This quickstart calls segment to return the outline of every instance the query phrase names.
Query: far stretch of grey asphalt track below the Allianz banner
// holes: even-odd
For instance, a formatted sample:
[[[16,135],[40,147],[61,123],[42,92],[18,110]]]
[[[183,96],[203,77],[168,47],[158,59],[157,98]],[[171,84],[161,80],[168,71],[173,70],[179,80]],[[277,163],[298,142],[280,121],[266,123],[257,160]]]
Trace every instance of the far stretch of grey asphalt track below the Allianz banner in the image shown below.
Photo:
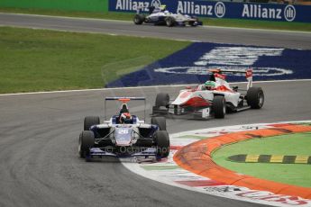
[[[219,27],[168,28],[166,26],[134,25],[133,22],[1,13],[0,25],[64,31],[92,31],[172,40],[201,40],[289,49],[311,49],[311,32],[241,30]]]

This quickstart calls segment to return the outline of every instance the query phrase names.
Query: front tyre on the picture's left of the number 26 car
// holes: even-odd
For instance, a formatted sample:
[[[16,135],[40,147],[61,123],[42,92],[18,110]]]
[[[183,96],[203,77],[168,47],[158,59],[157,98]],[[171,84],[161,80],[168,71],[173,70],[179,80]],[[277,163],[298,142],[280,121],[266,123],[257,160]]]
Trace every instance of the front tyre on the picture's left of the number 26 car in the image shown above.
[[[94,146],[94,133],[91,130],[83,130],[78,138],[78,154],[80,157],[87,157],[89,148]]]

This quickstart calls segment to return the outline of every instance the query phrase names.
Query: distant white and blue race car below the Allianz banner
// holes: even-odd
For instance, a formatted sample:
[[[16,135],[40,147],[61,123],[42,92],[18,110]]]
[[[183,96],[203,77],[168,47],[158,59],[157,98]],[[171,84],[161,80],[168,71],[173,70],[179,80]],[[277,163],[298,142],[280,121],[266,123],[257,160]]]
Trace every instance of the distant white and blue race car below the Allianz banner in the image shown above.
[[[154,6],[149,7],[149,15],[141,14],[141,9],[137,11],[137,14],[133,18],[135,24],[142,23],[152,23],[155,25],[167,25],[169,27],[173,26],[197,26],[202,25],[202,22],[199,22],[197,17],[189,16],[187,14],[172,14],[166,10],[165,5],[160,5],[159,8]]]

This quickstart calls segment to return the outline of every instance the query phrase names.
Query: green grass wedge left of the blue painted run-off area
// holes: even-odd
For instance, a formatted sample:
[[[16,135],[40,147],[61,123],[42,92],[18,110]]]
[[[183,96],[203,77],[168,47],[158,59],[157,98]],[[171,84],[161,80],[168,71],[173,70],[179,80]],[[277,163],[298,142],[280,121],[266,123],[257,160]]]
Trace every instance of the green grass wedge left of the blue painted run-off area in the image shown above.
[[[189,43],[0,27],[0,94],[100,88]]]

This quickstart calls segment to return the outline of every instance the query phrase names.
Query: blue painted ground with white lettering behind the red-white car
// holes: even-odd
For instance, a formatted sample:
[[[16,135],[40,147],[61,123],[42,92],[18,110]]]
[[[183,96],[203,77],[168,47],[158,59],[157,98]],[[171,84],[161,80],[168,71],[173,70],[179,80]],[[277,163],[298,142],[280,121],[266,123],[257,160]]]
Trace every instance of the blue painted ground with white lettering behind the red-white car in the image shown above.
[[[252,68],[254,81],[311,78],[310,57],[311,50],[196,42],[106,86],[199,84],[211,68]],[[244,75],[227,78],[245,81]]]

